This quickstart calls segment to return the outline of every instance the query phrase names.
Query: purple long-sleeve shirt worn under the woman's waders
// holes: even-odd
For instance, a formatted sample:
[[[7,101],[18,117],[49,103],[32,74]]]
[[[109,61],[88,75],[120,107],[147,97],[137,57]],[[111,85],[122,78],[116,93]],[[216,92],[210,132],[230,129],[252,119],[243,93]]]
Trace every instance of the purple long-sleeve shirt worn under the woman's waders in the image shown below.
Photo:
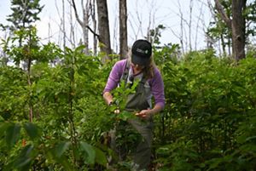
[[[104,88],[103,93],[111,92],[113,88],[116,88],[119,84],[120,78],[122,77],[125,71],[126,60],[119,60],[115,63],[112,68],[112,71],[109,74],[108,82]],[[154,96],[154,104],[160,105],[162,108],[165,106],[165,92],[164,92],[164,83],[160,75],[160,71],[154,67],[154,77],[148,79],[148,83],[151,87],[151,93]]]

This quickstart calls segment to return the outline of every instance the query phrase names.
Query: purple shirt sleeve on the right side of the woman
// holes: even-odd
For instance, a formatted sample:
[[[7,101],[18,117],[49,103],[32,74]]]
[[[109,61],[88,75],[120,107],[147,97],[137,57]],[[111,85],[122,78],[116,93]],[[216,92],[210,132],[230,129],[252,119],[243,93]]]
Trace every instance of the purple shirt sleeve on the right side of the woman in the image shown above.
[[[166,104],[164,82],[160,71],[157,68],[154,70],[154,77],[152,78],[151,84],[151,91],[154,96],[154,105],[160,105],[164,108]]]

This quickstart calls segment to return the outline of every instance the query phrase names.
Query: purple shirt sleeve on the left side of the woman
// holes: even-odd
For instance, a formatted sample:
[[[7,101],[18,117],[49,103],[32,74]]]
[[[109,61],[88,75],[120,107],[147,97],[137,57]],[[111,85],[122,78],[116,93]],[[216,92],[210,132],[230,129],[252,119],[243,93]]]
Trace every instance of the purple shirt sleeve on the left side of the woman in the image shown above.
[[[123,63],[124,61],[120,60],[114,64],[108,76],[108,82],[103,90],[103,94],[105,92],[110,92],[118,86],[118,83],[123,73]]]

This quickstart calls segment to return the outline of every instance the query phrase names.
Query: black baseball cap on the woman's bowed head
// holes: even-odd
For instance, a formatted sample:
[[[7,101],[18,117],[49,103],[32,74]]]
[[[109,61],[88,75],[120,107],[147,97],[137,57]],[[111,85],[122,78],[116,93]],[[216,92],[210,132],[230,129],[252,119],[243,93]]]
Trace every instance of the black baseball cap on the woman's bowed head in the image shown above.
[[[139,39],[131,48],[131,62],[139,66],[148,66],[152,54],[152,46],[147,40]]]

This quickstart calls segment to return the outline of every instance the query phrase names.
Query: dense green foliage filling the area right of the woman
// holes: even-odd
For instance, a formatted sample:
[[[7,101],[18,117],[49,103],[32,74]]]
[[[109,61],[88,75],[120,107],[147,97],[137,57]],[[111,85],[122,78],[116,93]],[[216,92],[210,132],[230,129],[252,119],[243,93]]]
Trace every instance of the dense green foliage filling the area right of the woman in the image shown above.
[[[247,58],[236,66],[202,51],[187,54],[176,65],[169,61],[160,66],[166,87],[166,110],[157,125],[160,169],[255,167],[255,62]]]

